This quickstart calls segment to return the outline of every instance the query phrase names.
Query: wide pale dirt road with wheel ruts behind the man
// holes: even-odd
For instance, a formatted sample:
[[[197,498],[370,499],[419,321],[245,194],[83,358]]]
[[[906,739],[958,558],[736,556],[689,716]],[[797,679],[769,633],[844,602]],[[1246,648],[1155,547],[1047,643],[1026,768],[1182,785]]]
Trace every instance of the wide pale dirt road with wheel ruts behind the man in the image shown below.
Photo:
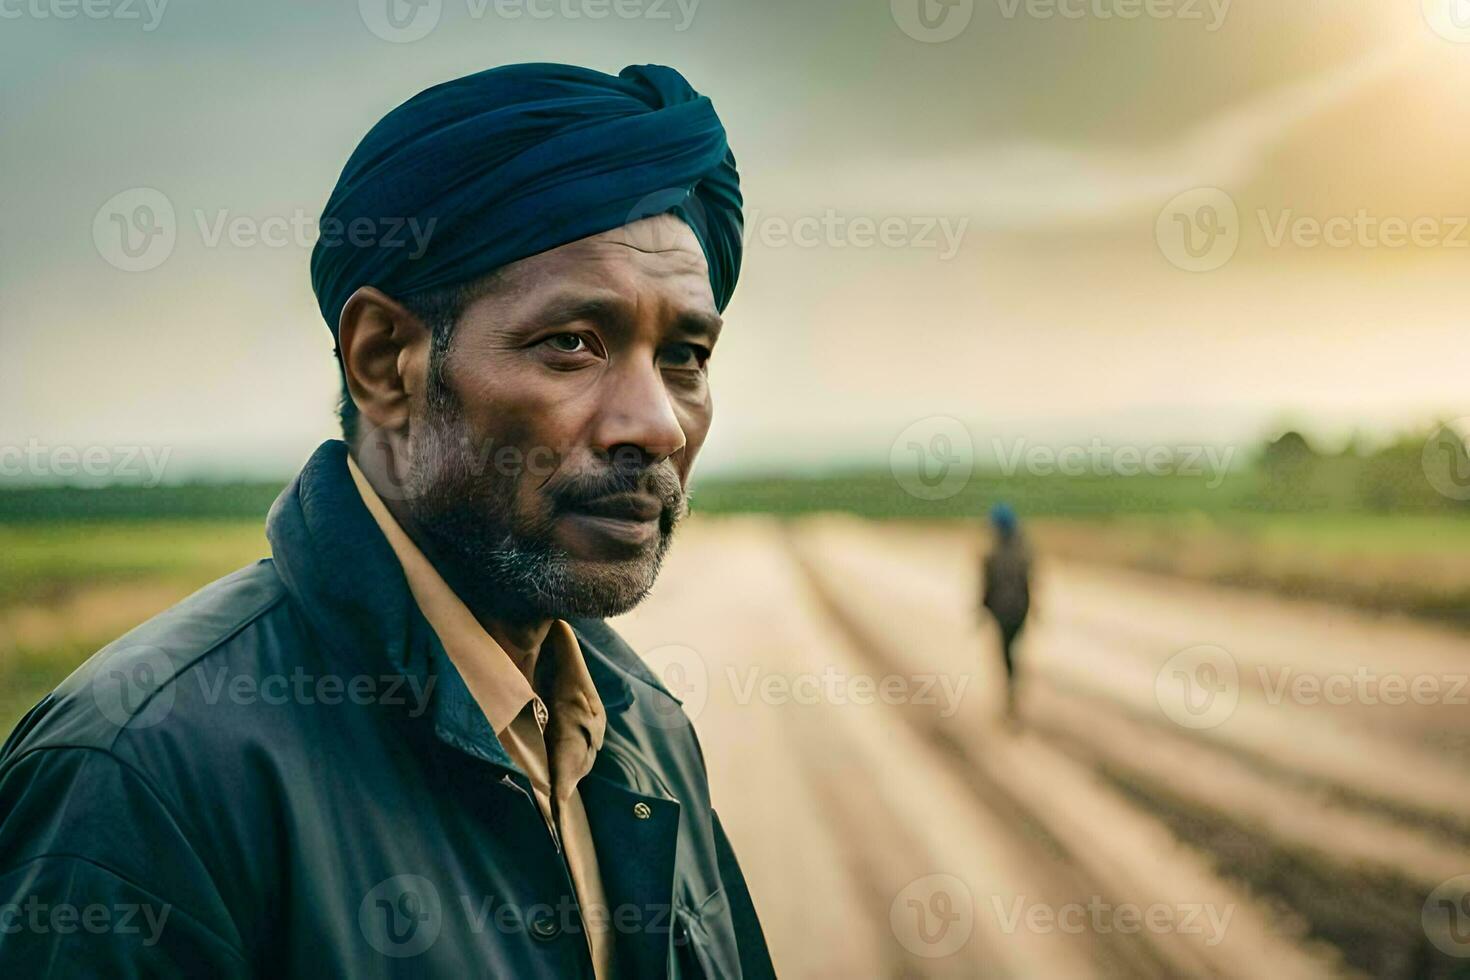
[[[942,529],[695,519],[617,623],[782,976],[1470,973],[1464,636],[1042,561],[1010,727],[975,566]]]

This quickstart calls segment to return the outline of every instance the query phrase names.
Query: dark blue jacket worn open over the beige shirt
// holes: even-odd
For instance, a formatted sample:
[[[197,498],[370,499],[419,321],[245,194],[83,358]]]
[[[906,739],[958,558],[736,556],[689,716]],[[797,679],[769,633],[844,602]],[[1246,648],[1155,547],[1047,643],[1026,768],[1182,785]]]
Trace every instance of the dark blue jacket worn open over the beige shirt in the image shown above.
[[[88,660],[0,752],[0,976],[588,977],[531,785],[328,442],[273,560]],[[678,702],[575,620],[623,977],[770,977]]]

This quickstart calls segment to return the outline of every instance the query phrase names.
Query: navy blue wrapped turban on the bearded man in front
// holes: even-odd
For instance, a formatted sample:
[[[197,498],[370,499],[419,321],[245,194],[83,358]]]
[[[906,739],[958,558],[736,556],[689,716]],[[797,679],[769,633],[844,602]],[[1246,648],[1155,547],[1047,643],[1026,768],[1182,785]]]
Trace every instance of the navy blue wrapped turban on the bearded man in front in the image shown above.
[[[679,72],[507,65],[428,88],[357,145],[322,213],[312,288],[337,334],[363,285],[403,297],[672,212],[716,306],[741,263],[735,157]]]

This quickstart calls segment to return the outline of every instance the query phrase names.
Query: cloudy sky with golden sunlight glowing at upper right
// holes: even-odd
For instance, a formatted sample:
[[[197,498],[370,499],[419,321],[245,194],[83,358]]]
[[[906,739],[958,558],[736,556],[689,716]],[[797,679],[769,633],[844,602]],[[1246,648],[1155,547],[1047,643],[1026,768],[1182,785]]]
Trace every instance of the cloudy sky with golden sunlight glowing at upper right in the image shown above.
[[[673,65],[725,120],[703,472],[1470,416],[1470,0],[0,0],[0,451],[293,473],[343,163],[526,60]]]

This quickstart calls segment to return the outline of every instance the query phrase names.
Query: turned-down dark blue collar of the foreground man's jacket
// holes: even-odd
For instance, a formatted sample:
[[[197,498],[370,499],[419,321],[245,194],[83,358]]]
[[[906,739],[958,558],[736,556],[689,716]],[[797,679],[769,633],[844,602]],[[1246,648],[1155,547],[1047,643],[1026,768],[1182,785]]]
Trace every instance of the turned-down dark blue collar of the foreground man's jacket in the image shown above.
[[[365,673],[391,671],[431,691],[441,741],[510,768],[500,739],[429,627],[347,469],[347,444],[323,442],[266,519],[276,570],[297,608],[337,657]],[[601,620],[572,620],[592,686],[609,716],[632,704],[629,677],[656,686]],[[426,688],[432,677],[432,688]]]

